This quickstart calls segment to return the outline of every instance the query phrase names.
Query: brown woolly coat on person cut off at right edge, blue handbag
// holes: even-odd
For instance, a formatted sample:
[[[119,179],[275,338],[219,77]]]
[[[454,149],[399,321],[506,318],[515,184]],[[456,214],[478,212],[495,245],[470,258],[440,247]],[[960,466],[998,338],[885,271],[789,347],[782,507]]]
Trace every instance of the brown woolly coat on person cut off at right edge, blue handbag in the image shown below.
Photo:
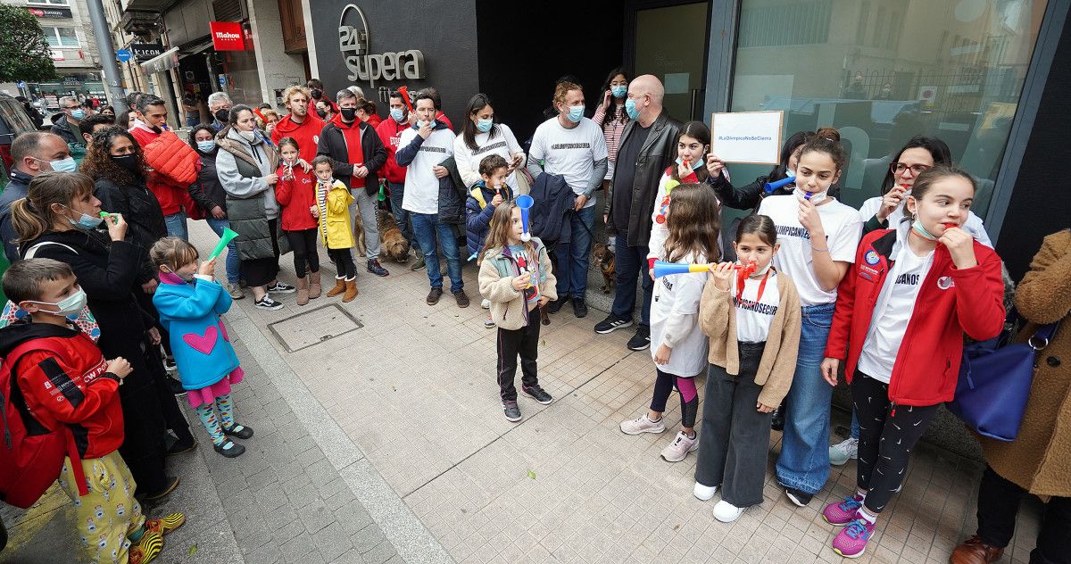
[[[1045,238],[1015,290],[1015,307],[1030,321],[1020,340],[1037,323],[1064,322],[1038,357],[1019,438],[981,438],[982,452],[997,474],[1030,493],[1071,497],[1071,231]]]

